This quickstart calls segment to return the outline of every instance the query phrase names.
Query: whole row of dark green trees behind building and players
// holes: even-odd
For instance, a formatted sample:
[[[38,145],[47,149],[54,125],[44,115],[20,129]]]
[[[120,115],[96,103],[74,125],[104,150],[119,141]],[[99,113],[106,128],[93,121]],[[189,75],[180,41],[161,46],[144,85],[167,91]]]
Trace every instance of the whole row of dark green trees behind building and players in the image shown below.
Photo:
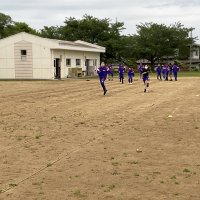
[[[123,35],[123,22],[112,23],[109,18],[98,19],[85,14],[82,19],[65,18],[61,26],[31,28],[25,22],[15,22],[9,15],[0,13],[0,38],[27,32],[40,37],[59,40],[83,40],[106,47],[101,59],[106,63],[135,65],[138,59],[147,59],[154,66],[163,58],[188,59],[189,46],[197,38],[189,37],[194,28],[186,28],[180,22],[172,25],[141,23],[136,34]]]

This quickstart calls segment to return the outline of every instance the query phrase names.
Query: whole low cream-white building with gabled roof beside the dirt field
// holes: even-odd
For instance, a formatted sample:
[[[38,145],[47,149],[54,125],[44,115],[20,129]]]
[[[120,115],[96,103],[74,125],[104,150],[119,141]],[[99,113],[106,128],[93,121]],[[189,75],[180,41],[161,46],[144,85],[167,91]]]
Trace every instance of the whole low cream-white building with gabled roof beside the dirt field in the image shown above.
[[[18,33],[0,40],[0,79],[59,79],[93,75],[105,48]]]

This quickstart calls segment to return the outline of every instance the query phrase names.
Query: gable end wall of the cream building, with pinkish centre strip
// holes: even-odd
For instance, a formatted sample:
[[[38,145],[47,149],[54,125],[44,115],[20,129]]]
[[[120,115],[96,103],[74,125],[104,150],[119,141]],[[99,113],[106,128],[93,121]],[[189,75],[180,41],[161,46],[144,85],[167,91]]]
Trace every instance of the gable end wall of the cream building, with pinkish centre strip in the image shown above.
[[[43,42],[41,42],[43,41]],[[53,63],[48,40],[31,35],[15,35],[0,41],[1,79],[53,79]],[[21,60],[21,50],[27,60]]]

